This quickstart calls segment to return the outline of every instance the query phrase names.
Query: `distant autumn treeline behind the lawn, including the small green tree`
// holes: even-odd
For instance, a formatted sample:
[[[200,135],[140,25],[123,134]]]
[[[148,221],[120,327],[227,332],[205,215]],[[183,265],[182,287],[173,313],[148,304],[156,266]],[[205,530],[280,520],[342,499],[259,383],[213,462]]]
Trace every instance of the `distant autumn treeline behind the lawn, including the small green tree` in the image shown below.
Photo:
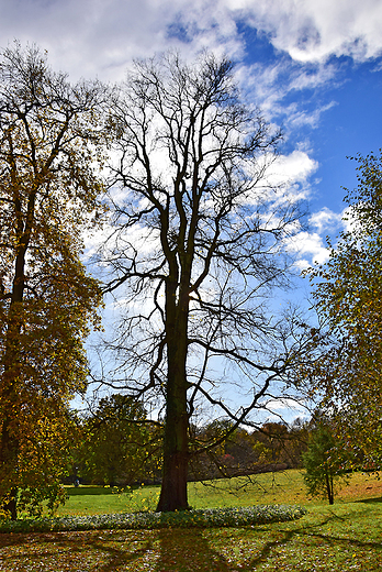
[[[193,427],[193,439],[207,446],[229,429],[231,421],[214,420]],[[65,484],[126,487],[160,484],[162,425],[147,418],[141,402],[115,394],[100,399],[86,417],[76,416],[77,444],[70,450]],[[228,426],[228,427],[227,427]],[[188,481],[210,481],[259,473],[304,469],[312,496],[334,504],[335,491],[355,470],[370,471],[360,448],[349,448],[330,418],[316,411],[291,426],[267,421],[248,431],[237,428],[218,447],[195,457]]]

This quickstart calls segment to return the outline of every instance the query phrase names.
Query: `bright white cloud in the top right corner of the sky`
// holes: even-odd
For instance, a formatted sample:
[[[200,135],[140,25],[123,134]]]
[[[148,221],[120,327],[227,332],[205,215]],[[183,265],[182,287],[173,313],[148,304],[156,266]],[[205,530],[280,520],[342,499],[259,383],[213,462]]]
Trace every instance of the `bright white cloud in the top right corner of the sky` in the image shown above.
[[[350,55],[363,61],[381,54],[380,0],[226,0],[255,28],[268,32],[278,50],[300,62]]]

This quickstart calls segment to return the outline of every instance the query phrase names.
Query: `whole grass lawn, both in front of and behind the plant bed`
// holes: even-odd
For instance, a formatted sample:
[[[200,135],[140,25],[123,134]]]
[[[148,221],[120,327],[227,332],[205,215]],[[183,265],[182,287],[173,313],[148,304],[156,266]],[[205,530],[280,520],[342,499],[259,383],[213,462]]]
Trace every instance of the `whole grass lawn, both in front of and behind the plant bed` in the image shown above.
[[[239,481],[244,485],[244,481]],[[382,482],[355,475],[334,506],[308,499],[301,473],[259,475],[235,491],[190,483],[195,508],[300,504],[300,520],[244,528],[0,535],[0,571],[238,572],[382,570]],[[61,514],[123,512],[153,504],[156,487],[130,497],[97,487],[69,488]]]

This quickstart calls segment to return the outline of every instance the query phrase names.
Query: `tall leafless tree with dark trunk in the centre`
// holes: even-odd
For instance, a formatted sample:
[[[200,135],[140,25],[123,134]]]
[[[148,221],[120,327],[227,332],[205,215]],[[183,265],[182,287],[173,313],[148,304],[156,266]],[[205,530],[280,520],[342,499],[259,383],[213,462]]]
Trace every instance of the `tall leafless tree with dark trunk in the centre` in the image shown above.
[[[112,346],[121,384],[165,404],[157,509],[186,509],[189,460],[216,444],[192,443],[191,416],[210,404],[233,420],[228,431],[254,422],[281,395],[272,387],[301,343],[268,311],[271,287],[288,279],[299,207],[267,184],[280,134],[240,101],[229,61],[138,62],[113,108],[115,227],[104,260],[106,289],[125,290]],[[247,404],[231,408],[218,377],[246,387]]]

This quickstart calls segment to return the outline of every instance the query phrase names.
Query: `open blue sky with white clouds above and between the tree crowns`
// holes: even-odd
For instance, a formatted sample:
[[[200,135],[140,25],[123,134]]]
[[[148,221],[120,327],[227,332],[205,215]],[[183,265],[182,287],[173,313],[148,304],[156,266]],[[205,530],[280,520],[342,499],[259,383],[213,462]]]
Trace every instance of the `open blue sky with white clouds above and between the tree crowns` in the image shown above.
[[[135,57],[201,48],[237,62],[243,90],[282,127],[277,180],[308,200],[301,265],[326,256],[340,230],[347,156],[378,151],[382,133],[380,0],[0,0],[0,47],[48,51],[74,80],[117,81]]]

